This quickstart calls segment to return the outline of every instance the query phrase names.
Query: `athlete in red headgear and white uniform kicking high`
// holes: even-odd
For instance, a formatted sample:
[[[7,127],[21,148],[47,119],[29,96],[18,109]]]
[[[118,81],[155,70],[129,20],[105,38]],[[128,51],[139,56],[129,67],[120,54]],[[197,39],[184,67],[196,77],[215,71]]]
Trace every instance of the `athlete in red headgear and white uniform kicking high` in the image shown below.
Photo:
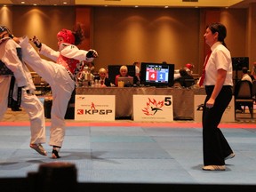
[[[28,37],[20,38],[23,60],[33,68],[39,76],[50,84],[52,89],[51,134],[49,144],[52,146],[52,158],[59,158],[60,148],[65,136],[65,114],[68,101],[75,89],[76,68],[81,69],[81,61],[92,62],[98,57],[94,50],[79,50],[75,44],[80,44],[78,33],[62,29],[58,35],[59,51],[56,52],[45,44],[41,44],[36,36],[34,44],[39,48],[39,53],[54,60],[43,60],[28,42]],[[78,39],[78,40],[77,40]]]

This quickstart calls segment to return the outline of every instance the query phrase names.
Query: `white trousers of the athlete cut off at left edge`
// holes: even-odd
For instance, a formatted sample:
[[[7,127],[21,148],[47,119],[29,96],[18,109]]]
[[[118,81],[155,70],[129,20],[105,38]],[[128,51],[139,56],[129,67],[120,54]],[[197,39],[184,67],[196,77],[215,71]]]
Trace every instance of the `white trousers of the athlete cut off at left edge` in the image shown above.
[[[12,76],[0,76],[0,120],[3,119],[8,105],[8,92]],[[20,106],[27,112],[30,120],[31,144],[45,143],[44,106],[34,94],[21,91]]]

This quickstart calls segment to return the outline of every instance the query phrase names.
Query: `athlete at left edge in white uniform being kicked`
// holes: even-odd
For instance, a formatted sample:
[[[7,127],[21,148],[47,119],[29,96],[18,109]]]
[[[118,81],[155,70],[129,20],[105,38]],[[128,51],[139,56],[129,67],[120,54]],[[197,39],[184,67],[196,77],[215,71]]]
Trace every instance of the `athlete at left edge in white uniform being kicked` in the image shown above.
[[[0,26],[0,58],[4,65],[13,72],[15,84],[12,98],[18,100],[16,90],[21,87],[20,105],[28,113],[30,120],[30,148],[34,148],[39,154],[46,156],[42,143],[45,143],[44,106],[33,93],[36,89],[32,76],[27,66],[18,57],[20,45],[12,40],[8,28]],[[2,68],[3,69],[3,68]],[[8,106],[8,93],[12,76],[0,75],[0,120]]]

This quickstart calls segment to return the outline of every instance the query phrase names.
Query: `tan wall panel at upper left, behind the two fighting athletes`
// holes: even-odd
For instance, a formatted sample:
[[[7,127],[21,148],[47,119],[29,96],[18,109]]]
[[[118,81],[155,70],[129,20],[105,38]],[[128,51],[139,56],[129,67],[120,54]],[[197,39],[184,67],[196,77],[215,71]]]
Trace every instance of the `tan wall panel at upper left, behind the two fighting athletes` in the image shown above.
[[[13,34],[37,36],[41,42],[57,50],[56,35],[61,28],[72,29],[75,24],[74,7],[14,6]]]

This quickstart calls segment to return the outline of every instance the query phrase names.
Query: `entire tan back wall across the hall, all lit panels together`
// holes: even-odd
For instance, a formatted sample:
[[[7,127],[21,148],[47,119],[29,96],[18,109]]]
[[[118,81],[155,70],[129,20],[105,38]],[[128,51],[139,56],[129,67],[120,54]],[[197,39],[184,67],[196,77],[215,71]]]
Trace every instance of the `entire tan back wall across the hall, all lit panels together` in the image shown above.
[[[138,60],[167,61],[181,68],[190,62],[196,66],[194,72],[201,74],[204,20],[202,9],[94,7],[90,44],[100,54],[95,67],[132,64]],[[248,33],[255,20],[248,19],[247,9],[220,10],[220,21],[228,28],[226,43],[233,57],[250,57],[255,52],[255,45],[249,45],[252,35]],[[11,26],[16,36],[36,35],[43,43],[57,49],[56,34],[61,28],[72,29],[76,7],[3,7],[0,21],[1,25]],[[255,30],[255,26],[253,28]]]

